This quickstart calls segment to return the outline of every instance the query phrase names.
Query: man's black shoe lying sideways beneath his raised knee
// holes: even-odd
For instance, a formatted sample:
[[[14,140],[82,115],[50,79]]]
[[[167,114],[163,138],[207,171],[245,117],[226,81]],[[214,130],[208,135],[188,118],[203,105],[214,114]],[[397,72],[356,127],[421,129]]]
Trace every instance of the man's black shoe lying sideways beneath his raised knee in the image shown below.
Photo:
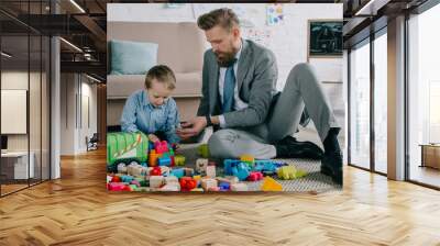
[[[293,136],[286,136],[275,144],[276,156],[280,158],[321,159],[323,152],[311,142],[298,142]]]

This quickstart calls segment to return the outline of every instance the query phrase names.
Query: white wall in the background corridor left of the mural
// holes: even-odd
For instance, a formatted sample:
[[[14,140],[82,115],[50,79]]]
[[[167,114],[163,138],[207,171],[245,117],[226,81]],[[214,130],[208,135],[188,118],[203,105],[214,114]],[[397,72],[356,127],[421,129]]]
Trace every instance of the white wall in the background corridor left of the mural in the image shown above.
[[[85,153],[86,136],[97,132],[97,86],[79,74],[62,74],[61,80],[61,154]],[[89,101],[90,125],[84,118],[87,114],[84,98]]]

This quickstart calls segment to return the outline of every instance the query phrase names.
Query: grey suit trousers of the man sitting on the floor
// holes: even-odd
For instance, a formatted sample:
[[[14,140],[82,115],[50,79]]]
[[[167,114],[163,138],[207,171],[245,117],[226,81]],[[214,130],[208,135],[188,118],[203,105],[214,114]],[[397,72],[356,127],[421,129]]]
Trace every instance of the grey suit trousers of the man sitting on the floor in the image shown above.
[[[248,128],[222,128],[215,132],[208,141],[211,156],[239,158],[249,154],[257,159],[276,157],[273,144],[297,130],[305,107],[322,142],[330,127],[339,127],[314,69],[308,64],[298,64],[290,70],[267,120]]]

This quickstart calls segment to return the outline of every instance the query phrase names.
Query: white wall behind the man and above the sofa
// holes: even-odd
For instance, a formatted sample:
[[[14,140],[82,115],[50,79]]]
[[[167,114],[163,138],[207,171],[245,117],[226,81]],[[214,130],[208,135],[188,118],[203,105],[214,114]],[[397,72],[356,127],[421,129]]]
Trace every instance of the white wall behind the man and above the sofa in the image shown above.
[[[308,20],[342,20],[342,4],[294,4],[285,3],[284,24],[266,25],[266,3],[185,3],[180,8],[166,8],[166,3],[109,3],[107,21],[124,22],[196,22],[197,16],[211,9],[229,7],[235,10],[245,23],[255,27],[242,27],[244,37],[251,30],[257,30],[270,37],[257,41],[275,53],[278,64],[278,90],[282,90],[289,70],[298,63],[307,62]],[[146,30],[145,30],[146,32]],[[207,47],[209,47],[207,45]],[[314,58],[309,60],[316,67],[321,81],[342,81],[341,58]]]

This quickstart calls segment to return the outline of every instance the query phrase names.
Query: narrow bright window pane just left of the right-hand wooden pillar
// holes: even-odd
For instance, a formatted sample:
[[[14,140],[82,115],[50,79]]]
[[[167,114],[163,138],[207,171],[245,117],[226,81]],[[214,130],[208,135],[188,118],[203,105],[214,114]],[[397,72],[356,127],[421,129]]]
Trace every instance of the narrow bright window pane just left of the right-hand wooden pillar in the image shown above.
[[[374,168],[387,172],[387,38],[374,41]]]

